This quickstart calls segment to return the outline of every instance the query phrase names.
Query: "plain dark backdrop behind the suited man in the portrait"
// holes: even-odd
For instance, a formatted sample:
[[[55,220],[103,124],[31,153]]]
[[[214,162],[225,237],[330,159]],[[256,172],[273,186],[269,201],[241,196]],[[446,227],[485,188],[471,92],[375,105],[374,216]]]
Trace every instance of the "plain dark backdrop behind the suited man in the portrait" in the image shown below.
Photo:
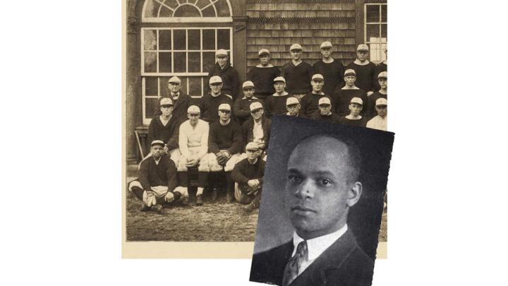
[[[286,164],[291,151],[303,138],[317,134],[348,138],[361,151],[359,181],[363,184],[363,193],[349,211],[348,227],[365,253],[375,258],[394,133],[284,115],[272,121],[254,252],[291,239],[293,227],[284,206]]]

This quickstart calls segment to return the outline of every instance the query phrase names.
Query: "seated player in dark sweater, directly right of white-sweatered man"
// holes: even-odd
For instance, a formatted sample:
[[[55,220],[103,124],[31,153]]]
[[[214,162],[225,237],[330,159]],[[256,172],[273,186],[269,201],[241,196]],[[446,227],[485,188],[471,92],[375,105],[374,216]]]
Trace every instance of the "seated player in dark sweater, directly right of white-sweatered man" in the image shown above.
[[[226,173],[226,201],[232,203],[234,199],[231,171],[238,162],[243,149],[241,126],[231,120],[231,106],[226,103],[219,105],[219,120],[210,124],[208,136],[208,152],[210,152],[210,179],[212,182],[212,201],[217,198],[217,182],[219,173],[224,169]]]

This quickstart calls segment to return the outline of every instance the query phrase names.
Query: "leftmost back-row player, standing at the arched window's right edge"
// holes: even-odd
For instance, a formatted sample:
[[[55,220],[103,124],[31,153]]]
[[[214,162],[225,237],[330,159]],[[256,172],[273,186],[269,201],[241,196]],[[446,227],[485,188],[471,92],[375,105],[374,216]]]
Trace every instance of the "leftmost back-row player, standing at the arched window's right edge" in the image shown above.
[[[222,92],[231,96],[232,100],[235,100],[240,88],[238,71],[236,71],[236,69],[229,63],[229,57],[225,49],[217,49],[215,52],[215,59],[217,60],[217,63],[210,68],[207,81],[210,81],[212,76],[219,76],[222,79],[221,82],[224,83],[224,86],[222,86]]]

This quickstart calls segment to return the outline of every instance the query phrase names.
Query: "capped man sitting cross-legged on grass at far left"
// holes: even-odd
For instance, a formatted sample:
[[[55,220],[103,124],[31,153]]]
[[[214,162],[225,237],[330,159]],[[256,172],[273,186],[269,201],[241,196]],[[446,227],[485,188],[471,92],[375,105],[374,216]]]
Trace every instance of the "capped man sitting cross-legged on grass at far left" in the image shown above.
[[[164,142],[153,141],[150,152],[152,156],[140,163],[139,179],[131,181],[128,186],[128,190],[143,201],[141,211],[153,210],[160,213],[162,203],[173,203],[179,198],[183,198],[183,203],[186,204],[187,190],[176,187],[176,166],[169,155],[164,155]]]

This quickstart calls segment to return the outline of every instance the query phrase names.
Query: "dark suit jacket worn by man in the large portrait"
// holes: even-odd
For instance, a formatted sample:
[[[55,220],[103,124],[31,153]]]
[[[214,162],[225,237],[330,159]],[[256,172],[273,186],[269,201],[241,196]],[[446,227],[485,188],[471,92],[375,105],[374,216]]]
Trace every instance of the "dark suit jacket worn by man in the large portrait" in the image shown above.
[[[291,258],[293,241],[254,254],[250,281],[282,285],[284,268]],[[343,234],[291,282],[291,286],[370,286],[374,261],[356,243],[351,230]]]

